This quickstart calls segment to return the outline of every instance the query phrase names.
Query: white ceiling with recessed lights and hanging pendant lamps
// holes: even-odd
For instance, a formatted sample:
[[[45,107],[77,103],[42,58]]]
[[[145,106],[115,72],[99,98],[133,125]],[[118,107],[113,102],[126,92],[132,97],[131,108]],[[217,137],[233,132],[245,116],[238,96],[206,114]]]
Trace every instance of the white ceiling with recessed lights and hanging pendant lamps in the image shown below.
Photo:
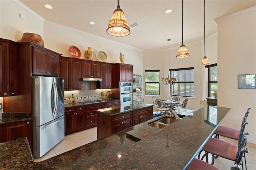
[[[45,20],[75,28],[140,49],[166,49],[182,43],[181,0],[120,0],[130,28],[125,37],[110,36],[108,21],[117,8],[117,0],[21,0]],[[206,0],[206,37],[217,32],[215,18],[256,6],[256,0]],[[50,4],[52,10],[43,5]],[[164,14],[172,9],[170,14]],[[90,25],[93,21],[96,24]],[[204,0],[184,0],[184,45],[204,39]]]

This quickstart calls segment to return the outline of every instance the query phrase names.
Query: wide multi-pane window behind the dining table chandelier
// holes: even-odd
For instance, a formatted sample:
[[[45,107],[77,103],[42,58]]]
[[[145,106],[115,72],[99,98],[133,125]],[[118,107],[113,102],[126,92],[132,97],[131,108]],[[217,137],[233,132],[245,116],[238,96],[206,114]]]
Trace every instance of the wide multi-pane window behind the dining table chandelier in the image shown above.
[[[170,77],[176,82],[170,85],[170,94],[184,97],[194,97],[194,67],[170,69]]]

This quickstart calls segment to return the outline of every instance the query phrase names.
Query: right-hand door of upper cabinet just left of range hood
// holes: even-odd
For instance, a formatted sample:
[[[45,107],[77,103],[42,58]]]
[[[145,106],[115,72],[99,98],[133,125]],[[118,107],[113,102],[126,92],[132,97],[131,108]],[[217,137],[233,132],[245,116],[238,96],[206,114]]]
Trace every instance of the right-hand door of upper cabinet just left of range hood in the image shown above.
[[[81,90],[81,61],[70,59],[70,90]]]

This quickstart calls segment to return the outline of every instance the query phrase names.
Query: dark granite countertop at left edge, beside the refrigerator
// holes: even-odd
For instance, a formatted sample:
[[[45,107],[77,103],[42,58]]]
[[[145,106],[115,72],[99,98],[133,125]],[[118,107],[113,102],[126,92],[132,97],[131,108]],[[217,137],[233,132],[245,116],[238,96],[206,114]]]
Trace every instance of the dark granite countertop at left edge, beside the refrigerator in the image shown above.
[[[30,113],[2,113],[0,125],[32,120]]]

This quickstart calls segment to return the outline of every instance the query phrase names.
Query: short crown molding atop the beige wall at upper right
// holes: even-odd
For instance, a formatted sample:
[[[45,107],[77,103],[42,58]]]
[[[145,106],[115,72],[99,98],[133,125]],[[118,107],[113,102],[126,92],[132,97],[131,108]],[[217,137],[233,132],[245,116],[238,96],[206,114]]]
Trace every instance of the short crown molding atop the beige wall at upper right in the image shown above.
[[[214,19],[214,22],[216,22],[216,24],[218,23],[222,23],[222,22],[227,22],[229,20],[232,20],[234,18],[239,18],[239,17],[242,17],[242,16],[246,16],[252,12],[255,12],[256,11],[256,6],[252,7],[252,8],[248,8],[246,10],[242,10],[242,11],[238,11],[238,12],[235,12],[235,13],[232,13],[232,14],[228,14],[226,16],[221,16],[219,18],[216,18]]]

